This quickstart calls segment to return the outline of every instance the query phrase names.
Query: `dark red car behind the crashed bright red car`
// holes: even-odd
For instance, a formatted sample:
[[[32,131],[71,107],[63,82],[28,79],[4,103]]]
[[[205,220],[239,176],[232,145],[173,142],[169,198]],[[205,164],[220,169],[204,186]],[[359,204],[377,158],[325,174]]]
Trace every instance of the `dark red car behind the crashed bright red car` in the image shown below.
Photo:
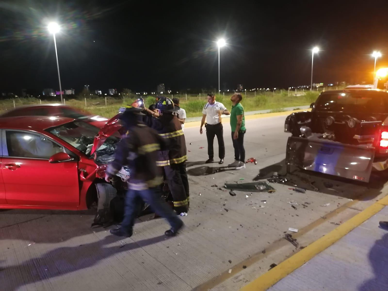
[[[26,105],[0,114],[0,118],[12,116],[62,116],[80,120],[88,119],[92,125],[99,128],[102,128],[108,121],[105,117],[85,113],[64,104]]]

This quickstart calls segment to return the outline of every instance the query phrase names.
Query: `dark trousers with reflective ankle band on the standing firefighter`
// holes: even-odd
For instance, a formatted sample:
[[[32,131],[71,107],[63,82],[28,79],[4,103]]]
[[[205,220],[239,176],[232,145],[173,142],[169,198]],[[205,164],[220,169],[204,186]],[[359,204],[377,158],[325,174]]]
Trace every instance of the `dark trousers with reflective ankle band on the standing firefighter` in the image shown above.
[[[177,213],[189,211],[189,180],[186,162],[165,166],[165,174]]]

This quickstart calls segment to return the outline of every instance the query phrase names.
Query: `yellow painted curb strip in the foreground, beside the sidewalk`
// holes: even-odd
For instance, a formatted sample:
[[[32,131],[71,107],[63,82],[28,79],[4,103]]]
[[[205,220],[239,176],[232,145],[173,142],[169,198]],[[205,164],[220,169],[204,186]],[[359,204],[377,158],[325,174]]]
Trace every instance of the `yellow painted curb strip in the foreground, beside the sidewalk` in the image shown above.
[[[241,288],[241,291],[267,290],[276,282],[280,281],[288,274],[290,274],[297,268],[301,267],[308,260],[311,260],[314,256],[319,254],[321,251],[325,250],[326,248],[334,244],[334,242],[344,237],[346,234],[348,234],[350,231],[355,229],[365,220],[368,220],[369,218],[371,218],[373,215],[378,213],[387,205],[388,205],[388,196],[375,202],[374,204],[366,208],[364,211],[361,211],[359,214],[350,218],[348,221],[342,223],[336,229],[332,230],[325,236],[321,237],[317,241],[313,242],[312,244],[308,245],[306,248],[296,253],[295,255],[291,256],[291,258],[288,258],[284,262],[277,265],[275,268],[272,268],[265,274],[261,275],[260,277],[258,277],[257,279],[249,283],[248,285]]]

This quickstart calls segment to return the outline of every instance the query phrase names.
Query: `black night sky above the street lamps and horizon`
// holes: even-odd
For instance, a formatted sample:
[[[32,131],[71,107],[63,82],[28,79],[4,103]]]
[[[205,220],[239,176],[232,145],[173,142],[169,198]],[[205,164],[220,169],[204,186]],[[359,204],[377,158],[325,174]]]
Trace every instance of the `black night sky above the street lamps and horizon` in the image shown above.
[[[52,35],[58,20],[62,89],[289,87],[372,82],[373,50],[388,65],[388,2],[2,1],[0,92],[59,90]]]

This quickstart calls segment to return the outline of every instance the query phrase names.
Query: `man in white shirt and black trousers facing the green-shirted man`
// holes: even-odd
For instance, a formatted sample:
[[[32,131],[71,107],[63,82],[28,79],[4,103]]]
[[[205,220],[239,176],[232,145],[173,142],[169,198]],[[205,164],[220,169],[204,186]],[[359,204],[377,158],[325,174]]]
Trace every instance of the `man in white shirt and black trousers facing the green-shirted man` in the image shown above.
[[[208,103],[205,104],[202,111],[202,121],[199,133],[202,132],[202,126],[206,119],[206,137],[208,139],[208,155],[209,159],[206,164],[213,163],[214,151],[213,141],[214,136],[217,135],[218,140],[218,157],[220,158],[219,164],[223,164],[223,158],[225,158],[225,144],[223,142],[223,126],[221,123],[221,114],[229,115],[230,112],[221,103],[216,101],[216,97],[213,94],[208,94]]]

